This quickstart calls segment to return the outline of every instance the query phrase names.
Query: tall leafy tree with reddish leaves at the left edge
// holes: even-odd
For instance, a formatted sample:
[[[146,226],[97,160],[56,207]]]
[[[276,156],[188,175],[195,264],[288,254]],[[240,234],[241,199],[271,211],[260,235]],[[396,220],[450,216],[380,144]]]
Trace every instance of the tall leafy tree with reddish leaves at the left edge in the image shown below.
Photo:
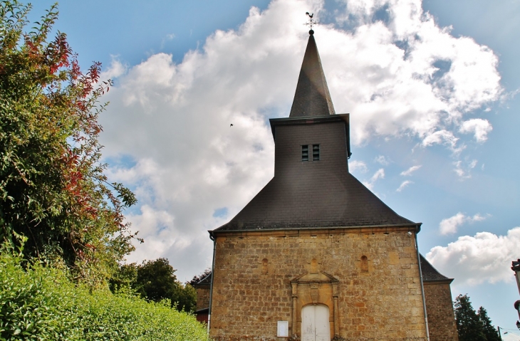
[[[30,5],[0,1],[0,241],[61,258],[89,283],[132,251],[122,211],[135,196],[100,163],[99,103],[110,80],[84,73],[65,33],[49,39],[56,5],[28,33]]]

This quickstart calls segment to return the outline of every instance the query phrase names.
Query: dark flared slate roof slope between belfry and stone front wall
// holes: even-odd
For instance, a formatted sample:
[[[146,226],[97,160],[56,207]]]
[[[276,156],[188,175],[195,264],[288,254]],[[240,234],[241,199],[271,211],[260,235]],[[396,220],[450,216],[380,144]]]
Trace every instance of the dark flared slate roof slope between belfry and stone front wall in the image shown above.
[[[306,177],[305,174],[302,177]],[[276,177],[229,223],[216,231],[360,226],[417,226],[396,214],[352,174],[323,177],[315,190]]]

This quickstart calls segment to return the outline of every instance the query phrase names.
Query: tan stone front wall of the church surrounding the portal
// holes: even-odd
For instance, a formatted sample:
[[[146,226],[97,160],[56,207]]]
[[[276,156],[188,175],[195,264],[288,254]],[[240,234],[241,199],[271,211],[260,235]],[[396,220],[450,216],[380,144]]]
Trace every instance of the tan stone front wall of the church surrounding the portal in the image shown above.
[[[210,335],[216,340],[286,340],[276,337],[276,326],[288,321],[289,335],[301,337],[299,312],[293,325],[297,304],[291,280],[317,267],[338,279],[331,338],[338,330],[345,340],[426,340],[415,238],[407,231],[219,234]],[[320,301],[330,293],[316,295],[315,303],[331,307]]]

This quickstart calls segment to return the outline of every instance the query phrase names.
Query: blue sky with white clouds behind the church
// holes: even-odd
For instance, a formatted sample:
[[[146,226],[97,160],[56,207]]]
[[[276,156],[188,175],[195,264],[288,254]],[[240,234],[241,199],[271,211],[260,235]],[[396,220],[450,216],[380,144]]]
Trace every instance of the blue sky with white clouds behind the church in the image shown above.
[[[34,4],[37,20],[53,1]],[[253,7],[255,6],[255,7]],[[270,117],[286,117],[316,13],[350,170],[423,223],[420,251],[454,296],[516,329],[520,258],[520,1],[61,1],[56,29],[115,81],[101,118],[112,179],[139,204],[145,243],[187,280],[211,263],[207,230],[273,174]],[[229,124],[233,123],[232,130]],[[514,340],[514,339],[511,339]]]

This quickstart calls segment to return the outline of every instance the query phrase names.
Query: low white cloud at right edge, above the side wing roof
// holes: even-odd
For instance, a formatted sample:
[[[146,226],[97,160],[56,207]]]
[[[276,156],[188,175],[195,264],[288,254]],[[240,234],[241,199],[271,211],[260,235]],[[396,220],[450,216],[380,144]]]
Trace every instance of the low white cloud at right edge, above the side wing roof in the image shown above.
[[[447,246],[435,246],[426,258],[446,276],[456,276],[457,285],[511,282],[511,261],[518,258],[520,227],[497,236],[479,232],[475,236],[460,236]]]

